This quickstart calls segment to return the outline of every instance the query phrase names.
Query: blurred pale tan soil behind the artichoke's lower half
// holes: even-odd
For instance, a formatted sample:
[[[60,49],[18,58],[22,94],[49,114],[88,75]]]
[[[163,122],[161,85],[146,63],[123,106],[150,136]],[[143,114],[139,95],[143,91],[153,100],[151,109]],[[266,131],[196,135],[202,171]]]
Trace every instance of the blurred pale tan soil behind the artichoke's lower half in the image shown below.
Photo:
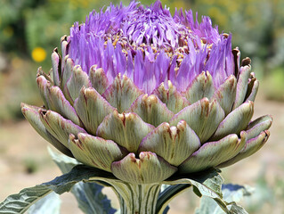
[[[255,185],[257,177],[263,170],[268,185],[275,185],[276,177],[280,179],[284,177],[284,103],[266,101],[262,95],[258,95],[254,118],[267,113],[272,114],[274,119],[268,143],[255,155],[228,169],[223,169],[223,177],[226,182]],[[60,169],[53,163],[46,150],[48,143],[37,135],[27,121],[6,123],[0,126],[1,202],[9,194],[18,193],[24,187],[37,185],[61,175]],[[30,169],[34,172],[28,173]],[[115,199],[115,195],[109,189],[105,192]],[[170,203],[169,214],[193,213],[194,208],[192,209],[192,207],[198,204],[191,202],[190,192],[181,194]],[[62,214],[82,213],[78,210],[77,202],[72,194],[64,193],[61,195],[61,199]],[[115,200],[113,205],[118,207],[118,201]],[[271,209],[272,207],[267,205],[264,206],[264,210],[258,213],[284,213],[283,205],[278,206],[273,212]]]

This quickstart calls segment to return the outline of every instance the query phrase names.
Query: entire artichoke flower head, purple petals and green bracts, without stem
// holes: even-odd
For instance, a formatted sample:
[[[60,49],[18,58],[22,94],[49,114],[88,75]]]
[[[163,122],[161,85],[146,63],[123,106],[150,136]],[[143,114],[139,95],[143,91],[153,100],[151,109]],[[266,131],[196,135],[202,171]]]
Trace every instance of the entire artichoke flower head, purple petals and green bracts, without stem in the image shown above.
[[[194,21],[195,20],[195,21]],[[22,104],[58,150],[132,184],[222,168],[266,142],[251,121],[259,82],[208,17],[157,1],[90,12],[37,73],[44,107]]]

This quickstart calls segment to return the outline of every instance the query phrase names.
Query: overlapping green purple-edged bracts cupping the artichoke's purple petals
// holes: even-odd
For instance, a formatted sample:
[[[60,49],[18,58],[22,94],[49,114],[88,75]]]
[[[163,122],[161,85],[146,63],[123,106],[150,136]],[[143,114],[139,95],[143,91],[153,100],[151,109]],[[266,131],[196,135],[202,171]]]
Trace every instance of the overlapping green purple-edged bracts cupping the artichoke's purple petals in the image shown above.
[[[135,7],[136,4],[130,4],[127,8],[131,12]],[[152,7],[157,9],[159,4]],[[174,16],[174,20],[179,17],[181,23],[189,22],[181,14]],[[202,30],[197,29],[207,22],[205,19],[199,25],[191,21],[189,26],[194,25],[196,31],[191,37],[202,34]],[[231,37],[223,39],[227,50]],[[272,118],[264,116],[251,121],[258,81],[251,72],[248,58],[239,64],[238,49],[223,52],[219,60],[215,49],[210,49],[207,69],[198,73],[190,66],[182,68],[185,58],[193,53],[185,55],[180,66],[173,57],[167,66],[178,67],[174,76],[169,78],[170,71],[164,70],[167,78],[156,79],[155,83],[139,78],[139,81],[144,79],[142,84],[149,85],[143,87],[137,85],[134,78],[135,72],[143,70],[127,73],[126,67],[119,67],[116,73],[104,70],[101,62],[93,63],[89,70],[82,69],[85,67],[77,64],[79,60],[76,62],[69,56],[70,45],[74,49],[77,44],[73,41],[62,37],[62,57],[54,49],[50,75],[38,70],[37,85],[45,106],[22,104],[24,116],[37,132],[70,157],[112,172],[123,181],[149,184],[161,182],[174,173],[229,166],[256,152],[267,141]],[[113,44],[109,41],[106,44],[106,47],[92,44],[99,45],[101,52],[93,55],[108,54],[108,46]],[[119,48],[116,46],[116,52],[121,51]],[[195,48],[194,53],[198,53]],[[137,55],[139,52],[134,54]],[[83,56],[87,54],[82,53]],[[142,61],[135,61],[135,57],[128,55],[127,61],[122,63],[142,64],[147,56],[140,57]],[[164,53],[158,54],[157,61],[158,57],[163,58]],[[157,71],[153,65],[155,62],[150,62],[148,67],[143,64],[151,77]],[[228,73],[231,68],[233,71]],[[176,80],[179,72],[184,73],[181,76],[186,86],[184,90],[179,86],[182,80]],[[191,78],[186,78],[188,76]]]

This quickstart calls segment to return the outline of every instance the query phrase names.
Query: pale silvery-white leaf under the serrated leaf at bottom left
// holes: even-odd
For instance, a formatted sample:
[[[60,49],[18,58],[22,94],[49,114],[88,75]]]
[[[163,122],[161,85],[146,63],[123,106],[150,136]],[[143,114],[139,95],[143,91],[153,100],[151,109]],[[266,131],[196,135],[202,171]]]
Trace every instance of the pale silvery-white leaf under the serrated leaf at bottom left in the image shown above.
[[[61,199],[57,193],[49,193],[28,209],[28,214],[60,214]]]

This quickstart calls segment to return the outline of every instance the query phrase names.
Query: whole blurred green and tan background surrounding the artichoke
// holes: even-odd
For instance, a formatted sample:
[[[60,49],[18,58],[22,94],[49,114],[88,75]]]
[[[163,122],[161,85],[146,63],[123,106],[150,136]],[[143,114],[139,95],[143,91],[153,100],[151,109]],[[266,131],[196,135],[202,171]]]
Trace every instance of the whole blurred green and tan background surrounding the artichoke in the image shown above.
[[[151,4],[152,1],[141,1]],[[261,86],[255,118],[272,114],[268,144],[261,152],[223,169],[227,183],[252,185],[244,200],[249,213],[284,213],[284,0],[167,0],[171,8],[210,16],[220,32],[232,33],[242,58],[252,59]],[[119,1],[112,1],[118,4]],[[60,175],[46,152],[47,143],[29,126],[20,103],[42,105],[37,68],[51,68],[50,55],[75,21],[85,21],[109,0],[0,0],[0,201],[25,186]],[[128,4],[128,1],[123,1]],[[108,191],[109,192],[109,191]],[[114,196],[112,196],[114,197]],[[117,202],[114,202],[118,206]],[[80,213],[71,195],[63,195],[61,213]],[[191,191],[171,203],[169,213],[193,213],[199,201]]]

